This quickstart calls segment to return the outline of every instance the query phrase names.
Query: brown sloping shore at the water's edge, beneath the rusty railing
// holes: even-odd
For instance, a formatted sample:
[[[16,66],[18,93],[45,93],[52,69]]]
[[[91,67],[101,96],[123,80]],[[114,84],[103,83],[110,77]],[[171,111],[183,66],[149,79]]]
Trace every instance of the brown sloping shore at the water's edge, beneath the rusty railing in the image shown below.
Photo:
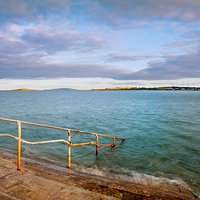
[[[177,183],[140,184],[57,170],[28,160],[16,170],[16,158],[0,153],[0,200],[198,199]]]

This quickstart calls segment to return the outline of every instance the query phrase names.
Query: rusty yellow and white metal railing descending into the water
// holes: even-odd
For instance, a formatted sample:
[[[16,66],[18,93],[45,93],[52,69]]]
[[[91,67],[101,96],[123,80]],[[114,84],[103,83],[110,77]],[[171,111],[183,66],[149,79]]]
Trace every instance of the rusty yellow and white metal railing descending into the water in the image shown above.
[[[111,135],[106,135],[106,134],[101,134],[101,133],[94,133],[94,132],[86,132],[86,131],[81,131],[81,130],[59,127],[59,126],[38,124],[38,123],[33,123],[33,122],[25,122],[25,121],[8,119],[8,118],[0,118],[0,120],[17,124],[17,133],[18,133],[17,137],[12,135],[12,134],[9,134],[9,133],[0,134],[0,137],[11,137],[11,138],[18,141],[17,142],[17,170],[21,169],[21,165],[20,165],[20,163],[21,163],[21,143],[32,144],[32,145],[34,145],[34,144],[49,144],[49,143],[57,143],[57,142],[66,143],[68,145],[68,165],[67,165],[67,167],[70,168],[71,167],[71,147],[84,146],[84,145],[94,145],[96,147],[96,155],[98,155],[98,149],[99,148],[115,147],[116,146],[116,140],[121,140],[122,142],[125,140],[124,138],[120,138],[120,137],[116,137],[116,136],[111,136]],[[22,139],[22,136],[21,136],[22,124],[67,131],[68,138],[67,138],[67,140],[57,139],[57,140],[30,142],[30,141]],[[71,136],[75,136],[77,133],[94,135],[95,141],[94,142],[82,142],[82,143],[73,144],[71,142]],[[112,139],[112,143],[111,144],[99,145],[99,137],[110,138],[110,139]]]

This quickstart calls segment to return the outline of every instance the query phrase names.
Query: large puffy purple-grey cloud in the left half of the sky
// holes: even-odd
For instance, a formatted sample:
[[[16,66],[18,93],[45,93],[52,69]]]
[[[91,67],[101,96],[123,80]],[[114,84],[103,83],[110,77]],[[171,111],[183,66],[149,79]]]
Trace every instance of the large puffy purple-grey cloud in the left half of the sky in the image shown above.
[[[66,22],[66,23],[64,23]],[[31,25],[9,23],[0,30],[0,67],[45,65],[48,57],[59,52],[94,52],[106,48],[101,34],[93,31],[81,33],[66,20],[40,21]],[[46,60],[47,61],[47,60]]]

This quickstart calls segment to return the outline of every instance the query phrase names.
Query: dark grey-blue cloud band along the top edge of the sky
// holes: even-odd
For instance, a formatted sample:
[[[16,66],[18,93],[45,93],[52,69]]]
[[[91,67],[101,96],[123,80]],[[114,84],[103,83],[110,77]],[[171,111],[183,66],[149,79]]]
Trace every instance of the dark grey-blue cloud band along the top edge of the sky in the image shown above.
[[[123,26],[125,21],[143,23],[144,20],[181,20],[198,21],[200,2],[198,0],[0,0],[0,13],[4,20],[30,20],[52,14],[70,16],[71,10],[76,17],[86,15],[101,23]]]

